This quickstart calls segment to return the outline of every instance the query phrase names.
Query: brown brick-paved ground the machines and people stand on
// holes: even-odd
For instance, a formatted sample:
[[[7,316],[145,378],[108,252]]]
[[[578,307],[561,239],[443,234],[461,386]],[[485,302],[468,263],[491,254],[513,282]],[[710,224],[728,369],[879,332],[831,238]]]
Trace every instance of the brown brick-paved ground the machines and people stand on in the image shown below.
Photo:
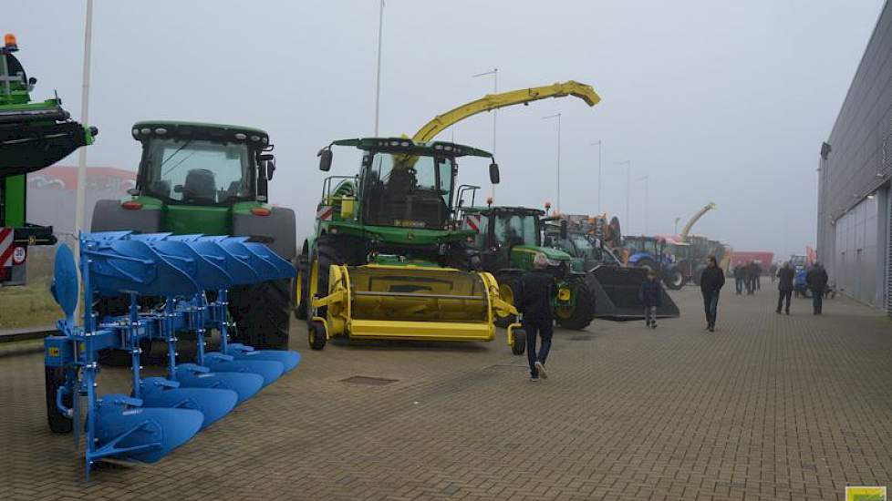
[[[767,287],[766,287],[767,289]],[[840,499],[890,484],[892,330],[836,299],[700,299],[657,331],[555,333],[549,380],[503,344],[293,346],[295,373],[155,465],[86,485],[45,423],[40,354],[0,356],[0,499]],[[0,348],[0,354],[4,348]],[[384,386],[345,383],[365,375]],[[100,390],[125,387],[103,373]]]

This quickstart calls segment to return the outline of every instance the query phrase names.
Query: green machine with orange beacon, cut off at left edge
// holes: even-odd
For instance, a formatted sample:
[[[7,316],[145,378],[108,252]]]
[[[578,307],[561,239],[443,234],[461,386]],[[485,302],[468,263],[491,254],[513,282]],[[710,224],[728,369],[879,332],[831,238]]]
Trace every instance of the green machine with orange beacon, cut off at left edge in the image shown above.
[[[37,80],[16,58],[16,36],[0,47],[0,286],[26,282],[27,248],[53,245],[51,226],[26,222],[26,176],[74,150],[93,144],[99,133],[72,120],[58,97],[32,101]]]

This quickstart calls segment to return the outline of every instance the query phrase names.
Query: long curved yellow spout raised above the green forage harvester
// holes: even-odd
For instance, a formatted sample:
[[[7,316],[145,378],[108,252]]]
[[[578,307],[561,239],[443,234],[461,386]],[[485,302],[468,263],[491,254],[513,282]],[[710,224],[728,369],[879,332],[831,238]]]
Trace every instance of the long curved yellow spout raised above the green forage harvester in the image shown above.
[[[586,101],[586,104],[590,107],[595,106],[598,101],[601,100],[601,97],[597,95],[592,86],[580,84],[573,80],[568,80],[564,83],[558,83],[551,86],[522,88],[520,90],[501,92],[499,94],[487,94],[476,101],[463,104],[460,107],[451,109],[450,111],[433,118],[415,133],[412,140],[417,143],[428,142],[452,124],[465,118],[472,117],[478,113],[482,113],[483,111],[491,111],[500,107],[509,107],[513,105],[525,105],[532,101],[538,101],[539,99],[546,99],[548,97],[565,96],[579,97],[583,101]]]

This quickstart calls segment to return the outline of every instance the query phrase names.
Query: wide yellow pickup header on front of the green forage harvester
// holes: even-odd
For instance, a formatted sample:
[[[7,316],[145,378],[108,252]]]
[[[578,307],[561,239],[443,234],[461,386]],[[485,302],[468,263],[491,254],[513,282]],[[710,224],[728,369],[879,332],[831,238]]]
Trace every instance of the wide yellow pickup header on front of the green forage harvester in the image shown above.
[[[336,333],[346,328],[352,338],[493,339],[493,292],[480,273],[386,265],[332,266],[329,273],[329,293],[335,295],[327,314]]]

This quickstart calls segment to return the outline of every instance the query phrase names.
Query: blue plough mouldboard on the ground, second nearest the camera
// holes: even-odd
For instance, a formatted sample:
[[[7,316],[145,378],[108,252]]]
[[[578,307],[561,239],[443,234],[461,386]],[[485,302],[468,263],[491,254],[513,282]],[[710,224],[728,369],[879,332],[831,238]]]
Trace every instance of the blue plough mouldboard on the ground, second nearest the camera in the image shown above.
[[[204,415],[202,429],[229,414],[235,408],[238,394],[217,388],[180,388],[179,384],[161,377],[143,379],[140,398],[143,407],[193,409]]]

